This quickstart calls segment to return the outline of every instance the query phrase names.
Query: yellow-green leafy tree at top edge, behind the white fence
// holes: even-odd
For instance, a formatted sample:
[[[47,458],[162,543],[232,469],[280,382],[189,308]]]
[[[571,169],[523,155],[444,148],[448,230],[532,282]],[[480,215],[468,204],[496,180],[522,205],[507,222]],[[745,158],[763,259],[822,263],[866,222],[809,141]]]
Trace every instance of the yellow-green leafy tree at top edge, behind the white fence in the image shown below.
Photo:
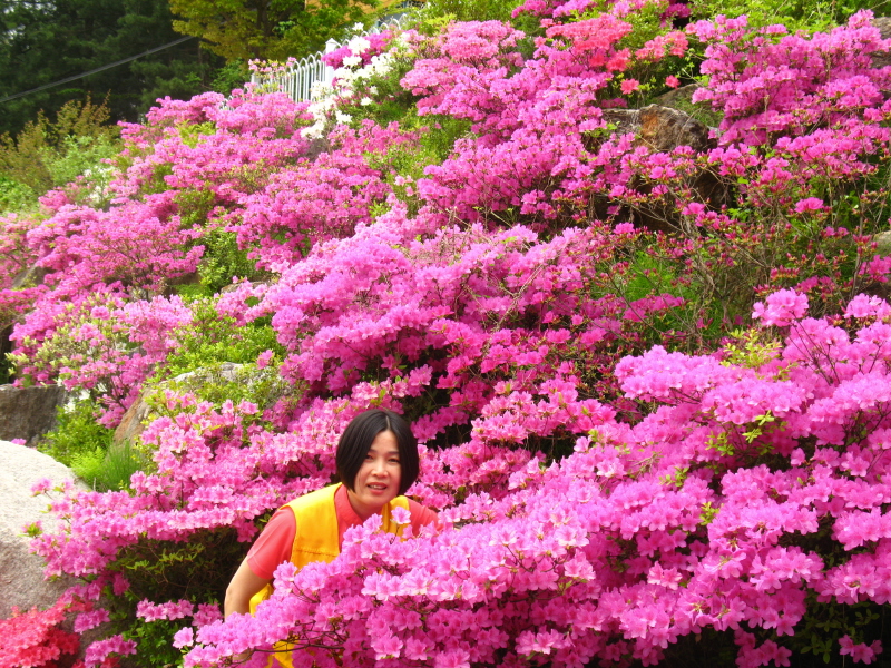
[[[343,27],[362,20],[376,0],[170,0],[174,28],[235,58],[284,60],[321,50]]]

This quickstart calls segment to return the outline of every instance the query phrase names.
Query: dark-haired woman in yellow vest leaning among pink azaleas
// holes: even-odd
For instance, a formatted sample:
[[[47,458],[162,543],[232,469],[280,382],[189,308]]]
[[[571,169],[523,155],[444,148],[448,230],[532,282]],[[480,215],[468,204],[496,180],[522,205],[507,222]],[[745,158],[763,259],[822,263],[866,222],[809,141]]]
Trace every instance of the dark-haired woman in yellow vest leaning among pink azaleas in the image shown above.
[[[340,483],[305,494],[272,517],[226,589],[226,617],[254,612],[272,593],[280,563],[302,568],[333,561],[346,529],[373,514],[382,515],[383,530],[391,533],[399,533],[390,517],[394,508],[411,513],[414,533],[437,521],[433,511],[402,495],[418,479],[419,462],[418,442],[401,415],[371,410],[354,418],[337,443],[336,465]]]

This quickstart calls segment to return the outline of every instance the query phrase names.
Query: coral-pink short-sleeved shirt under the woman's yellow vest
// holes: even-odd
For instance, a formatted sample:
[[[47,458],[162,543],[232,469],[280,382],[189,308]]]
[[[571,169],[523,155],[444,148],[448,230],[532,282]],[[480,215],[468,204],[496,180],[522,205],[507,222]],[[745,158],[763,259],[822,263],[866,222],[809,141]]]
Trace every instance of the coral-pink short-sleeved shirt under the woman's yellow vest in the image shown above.
[[[363,523],[355,514],[353,507],[350,505],[350,498],[343,485],[334,493],[334,512],[337,514],[337,546],[340,547],[343,544],[343,534],[346,530]],[[421,527],[437,521],[435,512],[411,499],[409,499],[409,512],[414,536],[418,534]],[[296,533],[297,522],[294,519],[294,511],[286,505],[276,510],[247,552],[247,566],[251,567],[254,574],[264,580],[272,580],[278,564],[291,560],[291,550],[294,547]]]

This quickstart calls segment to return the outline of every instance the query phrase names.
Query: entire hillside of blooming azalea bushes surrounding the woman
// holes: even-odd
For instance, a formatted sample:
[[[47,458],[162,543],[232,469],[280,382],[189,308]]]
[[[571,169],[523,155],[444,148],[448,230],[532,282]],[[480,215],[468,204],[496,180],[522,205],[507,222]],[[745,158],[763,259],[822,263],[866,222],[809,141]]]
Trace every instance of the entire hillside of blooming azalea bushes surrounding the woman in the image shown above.
[[[107,429],[153,410],[129,485],[69,491],[35,539],[105,625],[88,665],[875,660],[890,45],[868,12],[689,13],[529,0],[354,38],[313,104],[163,100],[101,204],[0,220],[18,382]],[[637,107],[682,79],[716,127],[663,110],[669,140]],[[219,621],[371,406],[412,421],[442,530],[371,521]]]

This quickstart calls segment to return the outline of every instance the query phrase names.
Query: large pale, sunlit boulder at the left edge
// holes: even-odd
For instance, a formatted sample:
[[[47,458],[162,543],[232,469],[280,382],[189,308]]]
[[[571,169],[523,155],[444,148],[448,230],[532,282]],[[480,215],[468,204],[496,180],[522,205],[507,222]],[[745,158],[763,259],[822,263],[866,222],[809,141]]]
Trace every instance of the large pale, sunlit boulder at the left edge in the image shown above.
[[[51,456],[7,441],[0,441],[0,619],[6,619],[12,606],[49,608],[76,583],[71,578],[45,580],[43,559],[30,553],[30,539],[22,533],[22,527],[36,521],[45,531],[56,528],[56,519],[45,512],[47,498],[32,497],[31,487],[41,478],[60,483],[74,474]]]

